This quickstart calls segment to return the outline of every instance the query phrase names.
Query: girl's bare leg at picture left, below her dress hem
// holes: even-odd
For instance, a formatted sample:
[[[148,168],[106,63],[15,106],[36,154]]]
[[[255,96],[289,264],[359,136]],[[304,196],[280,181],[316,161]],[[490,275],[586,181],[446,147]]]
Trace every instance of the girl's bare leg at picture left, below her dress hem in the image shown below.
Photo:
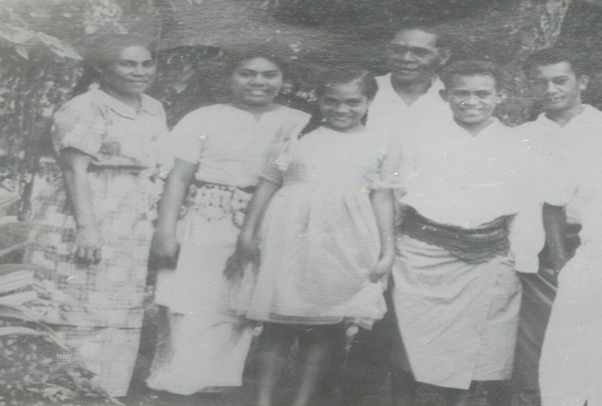
[[[259,382],[257,406],[271,406],[295,334],[289,326],[266,323],[258,342]]]

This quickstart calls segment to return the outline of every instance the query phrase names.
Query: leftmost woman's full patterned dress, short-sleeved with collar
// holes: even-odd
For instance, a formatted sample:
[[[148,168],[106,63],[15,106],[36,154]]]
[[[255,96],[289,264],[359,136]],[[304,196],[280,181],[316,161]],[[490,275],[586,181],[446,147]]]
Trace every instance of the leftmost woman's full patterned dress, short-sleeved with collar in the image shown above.
[[[55,150],[75,148],[92,158],[93,213],[103,239],[100,264],[73,261],[76,227],[62,179],[34,201],[35,237],[24,260],[45,267],[45,283],[55,288],[53,305],[37,310],[110,395],[127,394],[137,354],[166,133],[161,103],[146,95],[136,111],[94,89],[55,114]]]

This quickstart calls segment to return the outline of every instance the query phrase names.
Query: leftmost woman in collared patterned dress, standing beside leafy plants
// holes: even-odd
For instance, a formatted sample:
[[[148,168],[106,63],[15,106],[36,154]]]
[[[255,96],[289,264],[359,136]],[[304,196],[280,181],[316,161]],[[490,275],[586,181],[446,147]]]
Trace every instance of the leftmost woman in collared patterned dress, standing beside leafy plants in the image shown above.
[[[142,327],[166,120],[161,103],[143,94],[156,72],[147,40],[106,35],[85,60],[85,92],[55,114],[62,180],[34,202],[25,262],[47,268],[58,290],[44,320],[110,395],[123,396]],[[98,88],[88,90],[93,81]]]

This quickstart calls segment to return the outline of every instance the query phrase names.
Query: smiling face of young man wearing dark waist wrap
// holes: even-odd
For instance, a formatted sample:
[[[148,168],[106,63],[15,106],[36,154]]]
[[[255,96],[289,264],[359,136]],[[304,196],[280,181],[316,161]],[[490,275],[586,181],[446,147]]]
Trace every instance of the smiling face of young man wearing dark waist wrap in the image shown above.
[[[481,125],[492,116],[503,94],[496,89],[496,80],[487,74],[455,75],[444,91],[455,120],[460,125]]]

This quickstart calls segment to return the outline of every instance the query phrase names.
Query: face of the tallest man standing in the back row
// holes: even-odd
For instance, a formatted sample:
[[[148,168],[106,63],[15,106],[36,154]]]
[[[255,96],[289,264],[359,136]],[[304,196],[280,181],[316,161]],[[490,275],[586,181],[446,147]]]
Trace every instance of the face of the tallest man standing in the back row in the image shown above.
[[[437,36],[419,29],[402,30],[387,46],[387,66],[398,83],[419,84],[431,80],[435,70],[448,60],[437,47]]]

